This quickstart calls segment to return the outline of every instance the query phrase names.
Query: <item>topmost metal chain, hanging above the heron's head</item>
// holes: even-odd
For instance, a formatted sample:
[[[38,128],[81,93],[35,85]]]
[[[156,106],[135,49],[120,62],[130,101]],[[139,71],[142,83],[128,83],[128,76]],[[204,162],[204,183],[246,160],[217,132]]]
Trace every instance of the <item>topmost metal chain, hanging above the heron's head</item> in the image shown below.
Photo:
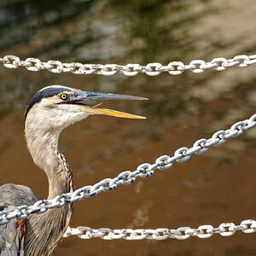
[[[26,67],[29,71],[39,71],[46,69],[51,73],[75,73],[75,74],[102,74],[111,76],[116,73],[122,73],[125,76],[136,76],[139,73],[146,73],[148,76],[157,76],[162,72],[168,72],[171,75],[182,74],[185,70],[190,70],[193,73],[203,73],[208,68],[222,71],[228,67],[248,67],[256,63],[256,55],[236,55],[232,59],[214,58],[210,62],[202,60],[190,61],[185,65],[181,61],[172,61],[167,66],[158,62],[148,63],[146,66],[139,64],[82,64],[79,62],[62,63],[61,61],[40,61],[37,58],[27,58],[26,61],[20,61],[20,58],[15,55],[6,55],[0,58],[0,62],[4,67],[17,68]]]

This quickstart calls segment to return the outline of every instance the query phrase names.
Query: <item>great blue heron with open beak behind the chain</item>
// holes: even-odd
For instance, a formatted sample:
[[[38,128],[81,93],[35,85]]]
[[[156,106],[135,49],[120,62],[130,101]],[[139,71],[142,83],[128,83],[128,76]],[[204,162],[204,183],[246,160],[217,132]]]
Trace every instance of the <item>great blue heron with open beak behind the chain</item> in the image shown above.
[[[25,113],[27,148],[34,163],[47,175],[48,199],[72,192],[73,173],[64,155],[58,150],[61,131],[90,114],[142,119],[129,113],[91,107],[87,100],[145,100],[138,96],[81,91],[61,85],[39,90]],[[36,195],[26,186],[5,184],[0,187],[0,210],[11,210],[20,205],[32,205]],[[0,226],[0,255],[46,255],[53,252],[69,224],[73,205],[32,214],[26,219],[14,219]]]

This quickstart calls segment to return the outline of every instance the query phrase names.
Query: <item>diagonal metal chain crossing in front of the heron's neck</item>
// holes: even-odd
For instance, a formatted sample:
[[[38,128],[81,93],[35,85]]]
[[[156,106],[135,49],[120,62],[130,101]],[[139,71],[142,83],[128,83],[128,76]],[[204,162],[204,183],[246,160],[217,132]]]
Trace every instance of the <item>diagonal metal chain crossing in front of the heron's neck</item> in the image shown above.
[[[52,200],[39,200],[32,206],[20,206],[16,207],[13,211],[0,211],[0,225],[9,223],[12,218],[27,218],[32,213],[44,213],[48,209],[55,207],[63,207],[66,203],[72,203],[80,201],[82,199],[90,198],[98,195],[103,191],[111,191],[116,189],[119,184],[131,184],[134,183],[137,177],[150,177],[154,174],[154,170],[158,169],[165,171],[172,167],[173,162],[177,161],[183,163],[191,158],[192,154],[202,154],[214,146],[219,146],[226,142],[231,137],[240,136],[244,131],[252,129],[256,126],[256,113],[250,119],[239,121],[232,125],[228,130],[216,131],[211,138],[201,138],[197,140],[191,148],[178,148],[174,155],[162,155],[154,164],[144,163],[137,166],[137,170],[134,172],[125,171],[119,173],[117,177],[105,178],[95,185],[87,185],[80,189],[73,191],[72,193],[57,195]]]

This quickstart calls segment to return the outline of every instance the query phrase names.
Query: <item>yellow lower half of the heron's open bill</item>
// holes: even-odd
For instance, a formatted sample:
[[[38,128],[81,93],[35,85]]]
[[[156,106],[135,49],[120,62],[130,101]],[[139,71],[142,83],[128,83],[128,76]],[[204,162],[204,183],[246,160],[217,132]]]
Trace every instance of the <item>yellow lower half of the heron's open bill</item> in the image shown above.
[[[81,106],[81,111],[86,112],[86,113],[93,113],[93,114],[104,114],[104,115],[110,115],[114,117],[119,117],[119,118],[124,118],[124,119],[146,119],[143,116],[131,114],[131,113],[124,113],[108,108],[93,108],[90,106]]]

